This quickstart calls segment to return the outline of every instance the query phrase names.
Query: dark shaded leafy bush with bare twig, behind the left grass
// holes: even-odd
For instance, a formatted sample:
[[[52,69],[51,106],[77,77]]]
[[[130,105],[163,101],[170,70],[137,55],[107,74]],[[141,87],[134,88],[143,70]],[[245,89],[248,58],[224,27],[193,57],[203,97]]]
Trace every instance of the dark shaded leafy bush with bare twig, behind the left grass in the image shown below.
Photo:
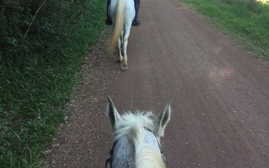
[[[1,43],[2,63],[25,64],[35,59],[29,53],[40,54],[47,59],[55,59],[59,51],[54,44],[63,38],[71,39],[74,33],[66,32],[65,26],[74,24],[75,19],[89,10],[87,1],[48,0],[32,18],[44,0],[4,0],[1,4]],[[26,35],[27,29],[29,33]],[[26,35],[26,38],[25,38]],[[53,42],[53,43],[51,43]],[[21,58],[23,57],[23,61]],[[28,62],[29,63],[29,62]],[[28,64],[26,63],[26,64]]]

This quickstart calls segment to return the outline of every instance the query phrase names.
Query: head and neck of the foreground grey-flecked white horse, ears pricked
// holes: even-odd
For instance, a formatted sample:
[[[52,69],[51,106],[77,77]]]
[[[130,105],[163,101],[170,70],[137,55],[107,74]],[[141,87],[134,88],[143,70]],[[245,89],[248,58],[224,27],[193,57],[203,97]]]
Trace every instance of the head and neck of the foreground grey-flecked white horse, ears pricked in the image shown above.
[[[106,164],[111,168],[165,168],[167,163],[160,137],[170,120],[171,101],[154,120],[151,112],[125,113],[120,116],[108,97],[107,117],[114,135],[113,147]]]

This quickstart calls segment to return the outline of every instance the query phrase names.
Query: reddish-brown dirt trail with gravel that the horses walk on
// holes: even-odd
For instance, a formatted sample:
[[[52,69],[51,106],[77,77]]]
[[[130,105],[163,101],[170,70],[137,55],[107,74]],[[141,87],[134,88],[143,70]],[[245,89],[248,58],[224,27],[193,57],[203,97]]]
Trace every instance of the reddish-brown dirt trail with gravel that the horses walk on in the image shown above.
[[[119,70],[103,42],[88,56],[51,166],[104,167],[112,145],[110,95],[120,112],[157,114],[172,99],[162,139],[170,168],[268,167],[269,69],[173,0],[141,1],[139,19],[129,69]]]

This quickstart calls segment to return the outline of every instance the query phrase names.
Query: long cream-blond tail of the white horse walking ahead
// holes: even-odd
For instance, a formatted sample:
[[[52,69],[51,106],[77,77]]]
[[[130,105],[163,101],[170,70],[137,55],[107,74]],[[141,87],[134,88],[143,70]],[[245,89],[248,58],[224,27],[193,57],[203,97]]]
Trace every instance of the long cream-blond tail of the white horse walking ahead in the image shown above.
[[[121,31],[123,30],[125,4],[126,0],[118,0],[115,17],[116,24],[114,31],[110,36],[108,48],[108,51],[110,51],[111,53],[113,53],[115,46],[117,45],[118,39],[120,38]]]

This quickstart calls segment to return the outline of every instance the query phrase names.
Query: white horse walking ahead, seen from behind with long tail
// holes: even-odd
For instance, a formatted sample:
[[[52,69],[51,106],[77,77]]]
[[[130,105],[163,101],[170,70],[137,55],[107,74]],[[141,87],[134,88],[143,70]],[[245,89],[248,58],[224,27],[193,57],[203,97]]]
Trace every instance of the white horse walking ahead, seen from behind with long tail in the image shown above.
[[[114,31],[111,34],[108,50],[113,53],[118,43],[121,69],[127,69],[127,43],[130,35],[135,9],[133,0],[111,0],[108,7],[109,17],[112,20]],[[121,55],[120,46],[123,44],[124,57]]]

